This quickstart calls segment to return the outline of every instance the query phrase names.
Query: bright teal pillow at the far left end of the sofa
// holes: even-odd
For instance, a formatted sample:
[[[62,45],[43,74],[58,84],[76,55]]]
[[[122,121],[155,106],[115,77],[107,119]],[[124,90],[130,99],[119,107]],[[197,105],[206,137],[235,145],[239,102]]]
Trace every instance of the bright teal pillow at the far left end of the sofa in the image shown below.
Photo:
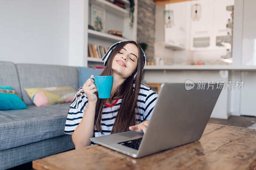
[[[0,86],[0,110],[28,109],[17,92],[10,86]]]

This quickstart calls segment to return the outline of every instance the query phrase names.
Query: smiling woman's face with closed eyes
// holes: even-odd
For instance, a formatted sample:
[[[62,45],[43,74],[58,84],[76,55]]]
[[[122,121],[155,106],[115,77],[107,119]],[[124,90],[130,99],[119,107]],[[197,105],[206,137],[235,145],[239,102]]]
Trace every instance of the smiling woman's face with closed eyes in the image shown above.
[[[126,44],[114,57],[112,70],[123,78],[129,77],[137,67],[139,51],[132,43]]]

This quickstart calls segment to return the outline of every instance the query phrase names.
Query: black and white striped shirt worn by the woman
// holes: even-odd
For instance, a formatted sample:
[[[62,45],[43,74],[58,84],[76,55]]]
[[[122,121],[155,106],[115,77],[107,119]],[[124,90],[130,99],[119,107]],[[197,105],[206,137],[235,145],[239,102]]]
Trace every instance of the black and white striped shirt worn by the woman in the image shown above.
[[[133,89],[134,89],[134,86],[135,86],[135,83],[133,83]],[[83,90],[83,87],[78,89],[70,105],[71,108],[68,112],[68,116],[65,124],[65,130],[64,130],[64,133],[66,134],[71,135],[75,131],[76,127],[81,122],[84,116],[84,111],[88,104],[88,98],[85,94],[82,95],[82,90]],[[77,96],[77,94],[79,95]],[[77,101],[76,101],[77,99],[76,96],[78,97]],[[136,124],[140,124],[144,120],[150,119],[152,115],[152,111],[156,105],[157,98],[158,98],[158,95],[150,87],[141,83],[140,92],[137,100],[139,113],[137,113],[136,115]],[[101,129],[103,131],[103,135],[110,134],[121,103],[122,103],[122,98],[117,99],[115,103],[113,103],[111,106],[108,104],[104,105],[104,108],[102,110],[102,117],[101,117]],[[94,129],[93,137],[99,137],[103,135],[99,131]],[[92,144],[93,143],[91,142],[91,145]]]

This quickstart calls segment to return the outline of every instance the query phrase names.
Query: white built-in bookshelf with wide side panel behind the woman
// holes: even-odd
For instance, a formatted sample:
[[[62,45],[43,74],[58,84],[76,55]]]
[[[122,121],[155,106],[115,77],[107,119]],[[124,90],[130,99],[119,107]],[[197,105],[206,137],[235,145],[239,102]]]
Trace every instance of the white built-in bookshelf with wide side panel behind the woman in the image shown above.
[[[133,28],[129,24],[129,0],[122,0],[126,9],[123,9],[106,0],[72,0],[69,1],[69,66],[93,67],[103,66],[102,59],[87,57],[88,43],[110,47],[118,41],[137,41],[137,4],[134,0]],[[88,29],[91,25],[91,5],[106,10],[105,32]],[[108,30],[124,32],[124,37],[110,35]]]

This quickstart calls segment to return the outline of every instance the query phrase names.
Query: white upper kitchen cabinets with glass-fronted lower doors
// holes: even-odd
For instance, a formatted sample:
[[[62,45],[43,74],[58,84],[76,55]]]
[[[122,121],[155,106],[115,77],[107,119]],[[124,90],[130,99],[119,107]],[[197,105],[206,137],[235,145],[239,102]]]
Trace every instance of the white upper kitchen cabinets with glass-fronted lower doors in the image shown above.
[[[234,0],[202,0],[191,1],[193,4],[201,4],[201,18],[199,21],[190,19],[190,49],[191,50],[218,50],[227,49],[224,46],[216,46],[216,37],[227,36],[231,29],[226,27],[231,12],[226,10],[229,5],[234,5]],[[200,46],[201,45],[201,46]]]

